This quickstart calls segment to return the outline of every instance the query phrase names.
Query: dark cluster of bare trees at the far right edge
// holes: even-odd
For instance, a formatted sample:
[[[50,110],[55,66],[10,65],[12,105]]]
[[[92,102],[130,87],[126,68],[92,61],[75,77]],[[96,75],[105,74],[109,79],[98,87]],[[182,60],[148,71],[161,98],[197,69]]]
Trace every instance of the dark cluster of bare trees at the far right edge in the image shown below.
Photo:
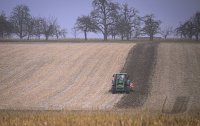
[[[200,36],[200,12],[197,12],[189,20],[185,21],[183,24],[180,24],[180,26],[176,28],[176,33],[181,38],[195,38],[198,41]]]

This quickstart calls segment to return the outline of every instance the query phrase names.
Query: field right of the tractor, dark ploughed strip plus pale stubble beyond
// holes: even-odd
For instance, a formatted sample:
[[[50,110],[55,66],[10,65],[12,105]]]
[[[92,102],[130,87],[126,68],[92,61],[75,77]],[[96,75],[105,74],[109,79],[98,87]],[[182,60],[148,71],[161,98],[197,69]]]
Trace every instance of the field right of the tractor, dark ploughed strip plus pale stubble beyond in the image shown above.
[[[117,107],[200,112],[200,44],[138,44],[129,52],[122,72],[137,86]]]

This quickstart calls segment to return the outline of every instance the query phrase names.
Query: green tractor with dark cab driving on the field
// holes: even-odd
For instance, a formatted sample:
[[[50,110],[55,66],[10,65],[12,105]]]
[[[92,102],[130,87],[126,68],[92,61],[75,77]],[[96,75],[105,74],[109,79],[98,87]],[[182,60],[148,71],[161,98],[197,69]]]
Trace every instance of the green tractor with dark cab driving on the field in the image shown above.
[[[117,73],[113,75],[112,80],[112,93],[126,92],[130,93],[131,81],[128,79],[127,73]]]

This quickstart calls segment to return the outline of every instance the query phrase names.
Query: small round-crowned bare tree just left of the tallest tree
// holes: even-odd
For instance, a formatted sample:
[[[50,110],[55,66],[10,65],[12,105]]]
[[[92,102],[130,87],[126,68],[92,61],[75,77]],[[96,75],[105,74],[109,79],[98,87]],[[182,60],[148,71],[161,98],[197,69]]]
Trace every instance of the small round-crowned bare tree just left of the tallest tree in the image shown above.
[[[95,24],[90,16],[81,16],[77,18],[76,28],[84,32],[85,40],[87,40],[87,32],[95,32]]]

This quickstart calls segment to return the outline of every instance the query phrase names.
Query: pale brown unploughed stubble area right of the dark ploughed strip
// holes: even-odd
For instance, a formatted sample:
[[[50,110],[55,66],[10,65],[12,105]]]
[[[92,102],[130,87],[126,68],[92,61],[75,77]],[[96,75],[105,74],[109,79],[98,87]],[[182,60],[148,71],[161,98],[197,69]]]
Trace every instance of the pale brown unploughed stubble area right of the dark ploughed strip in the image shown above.
[[[200,112],[200,44],[159,44],[144,108],[165,113]]]

